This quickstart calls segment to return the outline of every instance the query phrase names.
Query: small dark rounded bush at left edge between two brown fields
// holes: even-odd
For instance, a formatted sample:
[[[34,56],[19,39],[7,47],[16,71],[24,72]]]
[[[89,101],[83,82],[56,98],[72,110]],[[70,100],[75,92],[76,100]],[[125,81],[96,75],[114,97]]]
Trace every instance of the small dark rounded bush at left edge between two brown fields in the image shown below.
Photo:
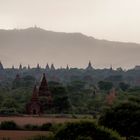
[[[0,124],[0,129],[2,129],[2,130],[17,130],[19,128],[14,121],[3,121]]]

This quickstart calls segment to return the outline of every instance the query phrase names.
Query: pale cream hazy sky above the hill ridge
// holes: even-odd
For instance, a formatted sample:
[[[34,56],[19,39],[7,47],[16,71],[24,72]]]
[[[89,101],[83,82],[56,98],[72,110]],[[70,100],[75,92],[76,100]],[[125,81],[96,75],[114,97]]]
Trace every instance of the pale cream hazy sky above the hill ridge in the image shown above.
[[[140,43],[140,0],[0,0],[0,28],[82,32]]]

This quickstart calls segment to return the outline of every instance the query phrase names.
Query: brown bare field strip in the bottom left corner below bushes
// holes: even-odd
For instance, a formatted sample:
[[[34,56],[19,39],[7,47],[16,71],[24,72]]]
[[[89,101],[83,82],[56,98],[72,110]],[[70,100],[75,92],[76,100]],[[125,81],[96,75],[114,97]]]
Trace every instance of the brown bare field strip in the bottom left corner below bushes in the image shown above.
[[[0,131],[0,140],[3,138],[10,138],[10,140],[26,140],[33,136],[43,135],[46,136],[48,132],[45,131]]]

